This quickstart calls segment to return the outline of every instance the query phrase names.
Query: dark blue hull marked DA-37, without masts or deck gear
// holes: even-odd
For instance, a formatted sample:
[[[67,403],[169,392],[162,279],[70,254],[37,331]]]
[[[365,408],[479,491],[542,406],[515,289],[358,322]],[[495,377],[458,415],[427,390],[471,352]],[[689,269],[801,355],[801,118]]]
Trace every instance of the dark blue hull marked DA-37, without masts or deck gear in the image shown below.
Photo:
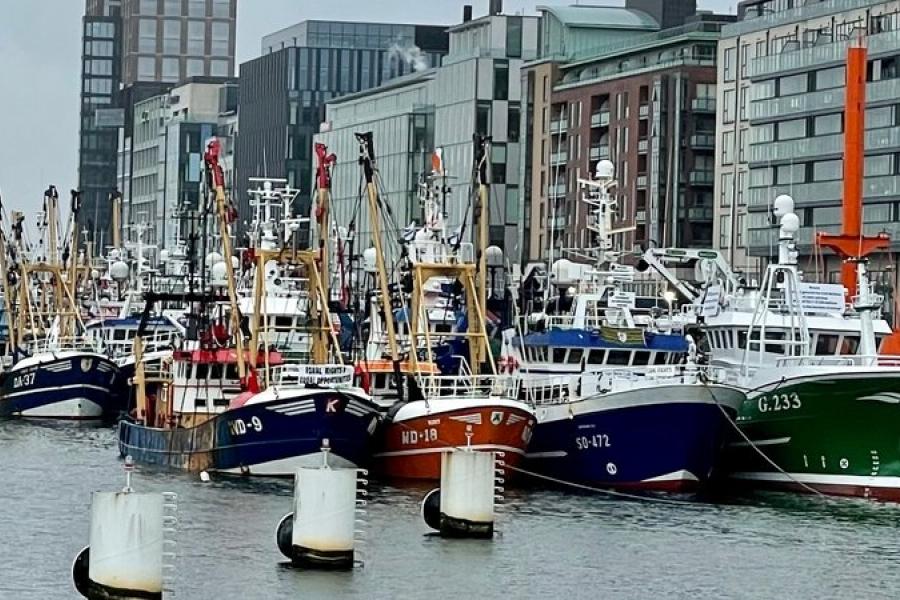
[[[97,354],[61,353],[14,366],[0,383],[0,417],[113,420],[126,410],[115,363]]]

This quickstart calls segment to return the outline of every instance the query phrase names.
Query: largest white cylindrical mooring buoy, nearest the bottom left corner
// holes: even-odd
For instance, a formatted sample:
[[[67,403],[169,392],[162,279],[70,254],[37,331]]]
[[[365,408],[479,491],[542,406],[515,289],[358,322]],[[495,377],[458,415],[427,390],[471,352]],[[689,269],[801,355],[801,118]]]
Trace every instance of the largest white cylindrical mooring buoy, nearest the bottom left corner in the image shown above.
[[[90,545],[76,557],[72,577],[89,599],[162,598],[174,545],[174,494],[136,494],[134,463],[125,459],[125,488],[94,492]],[[168,564],[166,564],[168,563]]]

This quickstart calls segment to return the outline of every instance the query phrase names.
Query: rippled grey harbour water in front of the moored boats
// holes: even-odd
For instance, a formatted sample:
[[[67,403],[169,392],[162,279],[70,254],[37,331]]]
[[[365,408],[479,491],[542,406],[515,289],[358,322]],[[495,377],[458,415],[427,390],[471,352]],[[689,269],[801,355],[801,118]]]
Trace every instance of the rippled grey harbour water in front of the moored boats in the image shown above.
[[[123,484],[112,429],[0,422],[0,599],[77,598],[90,494]],[[365,566],[284,563],[274,529],[287,481],[138,469],[139,491],[178,494],[177,597],[897,598],[900,506],[753,494],[682,504],[513,490],[493,541],[429,535],[427,488],[372,485]]]

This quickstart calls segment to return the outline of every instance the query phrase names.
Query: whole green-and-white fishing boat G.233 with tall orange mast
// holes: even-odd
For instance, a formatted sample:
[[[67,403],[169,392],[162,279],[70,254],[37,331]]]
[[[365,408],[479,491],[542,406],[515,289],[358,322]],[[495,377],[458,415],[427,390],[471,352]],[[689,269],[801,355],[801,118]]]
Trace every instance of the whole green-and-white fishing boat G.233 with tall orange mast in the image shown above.
[[[705,325],[711,362],[737,367],[748,390],[730,444],[731,477],[744,485],[900,499],[900,357],[879,353],[891,328],[869,280],[867,255],[885,234],[862,227],[866,51],[851,45],[841,234],[816,243],[844,258],[841,283],[804,281],[790,196],[775,198],[777,260],[760,289],[713,290]]]

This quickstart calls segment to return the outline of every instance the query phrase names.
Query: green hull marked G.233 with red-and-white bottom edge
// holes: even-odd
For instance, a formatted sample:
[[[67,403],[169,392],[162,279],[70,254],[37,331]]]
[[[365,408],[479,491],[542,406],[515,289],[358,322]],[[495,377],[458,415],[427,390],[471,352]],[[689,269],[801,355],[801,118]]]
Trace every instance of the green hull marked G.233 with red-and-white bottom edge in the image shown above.
[[[727,456],[739,482],[900,500],[900,369],[787,373],[747,398],[738,425],[747,439]]]

